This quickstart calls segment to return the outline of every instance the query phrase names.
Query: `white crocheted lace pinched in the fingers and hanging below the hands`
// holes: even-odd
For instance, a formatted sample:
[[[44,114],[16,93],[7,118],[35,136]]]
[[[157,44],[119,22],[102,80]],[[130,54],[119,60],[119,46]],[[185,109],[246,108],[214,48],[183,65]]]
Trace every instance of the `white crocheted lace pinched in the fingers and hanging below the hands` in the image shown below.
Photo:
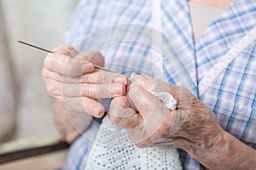
[[[133,74],[131,75],[133,77]],[[131,81],[132,82],[132,81]],[[136,82],[133,82],[136,83]],[[143,86],[142,86],[143,87]],[[145,88],[146,89],[146,88]],[[171,94],[154,93],[167,108],[174,110],[177,100]],[[106,116],[96,135],[85,167],[92,169],[183,169],[177,149],[172,146],[137,148],[125,129]]]

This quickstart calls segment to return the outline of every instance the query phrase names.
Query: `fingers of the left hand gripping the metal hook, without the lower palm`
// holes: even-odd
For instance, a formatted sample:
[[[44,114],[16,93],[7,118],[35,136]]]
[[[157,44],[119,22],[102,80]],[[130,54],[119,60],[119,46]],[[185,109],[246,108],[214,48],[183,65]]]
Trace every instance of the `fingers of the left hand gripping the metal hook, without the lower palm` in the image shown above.
[[[89,51],[79,54],[67,45],[54,49],[44,60],[42,76],[47,90],[68,112],[86,112],[101,117],[104,107],[96,99],[113,98],[125,93],[124,75],[99,71],[104,66],[101,53]]]

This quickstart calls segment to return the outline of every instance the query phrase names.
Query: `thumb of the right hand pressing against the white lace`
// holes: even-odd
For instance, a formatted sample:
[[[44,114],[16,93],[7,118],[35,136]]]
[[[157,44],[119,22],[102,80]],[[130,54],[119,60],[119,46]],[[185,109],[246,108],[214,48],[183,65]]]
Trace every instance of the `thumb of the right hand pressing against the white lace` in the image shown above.
[[[137,111],[143,116],[143,126],[137,126],[130,132],[138,133],[139,131],[144,131],[143,135],[134,137],[137,142],[151,139],[153,134],[158,132],[162,126],[167,128],[168,132],[170,131],[170,126],[164,122],[169,120],[168,116],[172,116],[172,113],[159,99],[134,83],[131,83],[129,87],[128,96],[136,106]]]

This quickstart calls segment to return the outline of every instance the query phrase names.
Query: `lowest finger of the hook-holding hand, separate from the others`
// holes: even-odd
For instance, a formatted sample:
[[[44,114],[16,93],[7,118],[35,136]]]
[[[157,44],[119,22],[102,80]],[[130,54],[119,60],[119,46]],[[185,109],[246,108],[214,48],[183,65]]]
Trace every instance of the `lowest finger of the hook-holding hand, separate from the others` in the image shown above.
[[[104,115],[104,107],[94,99],[80,98],[63,98],[61,101],[67,112],[85,112],[90,116],[102,117]]]

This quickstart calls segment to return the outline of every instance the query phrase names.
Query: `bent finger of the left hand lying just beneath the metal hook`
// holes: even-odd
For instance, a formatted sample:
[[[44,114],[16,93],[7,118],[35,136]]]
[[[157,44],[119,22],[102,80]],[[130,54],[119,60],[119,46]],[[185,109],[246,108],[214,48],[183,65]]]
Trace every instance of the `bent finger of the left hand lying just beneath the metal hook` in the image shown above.
[[[44,67],[68,77],[76,77],[94,71],[94,65],[88,60],[74,59],[63,54],[48,54]]]

